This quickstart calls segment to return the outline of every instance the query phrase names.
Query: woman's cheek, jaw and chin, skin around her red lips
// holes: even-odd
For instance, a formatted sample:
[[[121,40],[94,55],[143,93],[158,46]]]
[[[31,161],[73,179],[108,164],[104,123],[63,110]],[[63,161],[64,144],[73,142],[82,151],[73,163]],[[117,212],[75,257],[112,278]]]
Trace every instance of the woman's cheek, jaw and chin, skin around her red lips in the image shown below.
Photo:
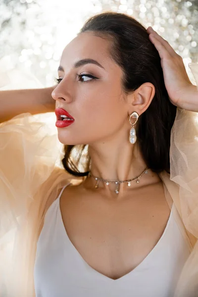
[[[90,144],[123,129],[126,106],[119,85],[86,87],[75,94],[72,104],[75,122],[58,129],[63,144]]]

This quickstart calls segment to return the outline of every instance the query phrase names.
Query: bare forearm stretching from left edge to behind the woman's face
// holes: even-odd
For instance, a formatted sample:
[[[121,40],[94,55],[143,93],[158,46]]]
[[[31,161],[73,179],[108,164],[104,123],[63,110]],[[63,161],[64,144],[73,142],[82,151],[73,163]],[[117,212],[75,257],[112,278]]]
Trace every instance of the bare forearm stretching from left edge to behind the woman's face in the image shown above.
[[[0,123],[24,112],[54,111],[55,100],[51,97],[54,88],[0,91]]]

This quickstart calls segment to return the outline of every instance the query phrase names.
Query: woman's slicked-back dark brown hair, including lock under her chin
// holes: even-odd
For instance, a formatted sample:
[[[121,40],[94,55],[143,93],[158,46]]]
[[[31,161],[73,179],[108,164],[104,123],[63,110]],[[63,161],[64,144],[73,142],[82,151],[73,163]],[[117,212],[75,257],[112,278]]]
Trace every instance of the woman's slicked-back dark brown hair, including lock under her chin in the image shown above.
[[[146,28],[127,14],[104,12],[91,17],[79,34],[87,31],[110,40],[109,55],[123,70],[122,87],[126,94],[146,82],[154,85],[155,95],[137,122],[137,143],[148,168],[156,173],[170,173],[170,133],[177,107],[169,100],[161,59]],[[62,164],[66,171],[76,177],[87,176],[88,146],[65,145],[64,149]]]

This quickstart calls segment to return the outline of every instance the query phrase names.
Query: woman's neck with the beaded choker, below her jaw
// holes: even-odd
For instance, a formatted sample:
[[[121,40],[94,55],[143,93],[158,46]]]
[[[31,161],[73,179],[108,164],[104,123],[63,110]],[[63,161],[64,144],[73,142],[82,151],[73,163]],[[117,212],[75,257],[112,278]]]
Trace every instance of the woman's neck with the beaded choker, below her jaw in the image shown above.
[[[147,168],[137,143],[131,145],[121,142],[121,145],[118,145],[111,140],[110,144],[102,142],[94,146],[89,145],[89,155],[91,157],[92,175],[109,181],[133,179],[141,175]],[[87,189],[95,189],[97,181],[93,176],[87,177],[84,182]],[[127,183],[121,183],[119,195],[130,191],[130,189],[138,188],[140,185],[143,186],[152,183],[152,181],[156,182],[156,179],[159,181],[159,176],[148,170],[148,174],[143,174],[139,184],[136,183],[136,180],[131,182],[130,187]],[[105,194],[115,193],[115,184],[113,183],[106,185],[104,182],[99,182],[98,187],[99,191],[103,191]]]

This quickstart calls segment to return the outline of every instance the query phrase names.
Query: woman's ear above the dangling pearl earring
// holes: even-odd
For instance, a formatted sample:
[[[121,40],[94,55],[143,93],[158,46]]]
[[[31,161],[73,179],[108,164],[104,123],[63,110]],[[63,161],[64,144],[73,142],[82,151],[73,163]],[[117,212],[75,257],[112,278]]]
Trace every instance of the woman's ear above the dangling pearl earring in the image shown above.
[[[155,87],[153,84],[142,84],[133,94],[128,95],[128,102],[130,103],[129,114],[136,111],[139,115],[141,115],[145,110],[147,110],[154,95]]]

